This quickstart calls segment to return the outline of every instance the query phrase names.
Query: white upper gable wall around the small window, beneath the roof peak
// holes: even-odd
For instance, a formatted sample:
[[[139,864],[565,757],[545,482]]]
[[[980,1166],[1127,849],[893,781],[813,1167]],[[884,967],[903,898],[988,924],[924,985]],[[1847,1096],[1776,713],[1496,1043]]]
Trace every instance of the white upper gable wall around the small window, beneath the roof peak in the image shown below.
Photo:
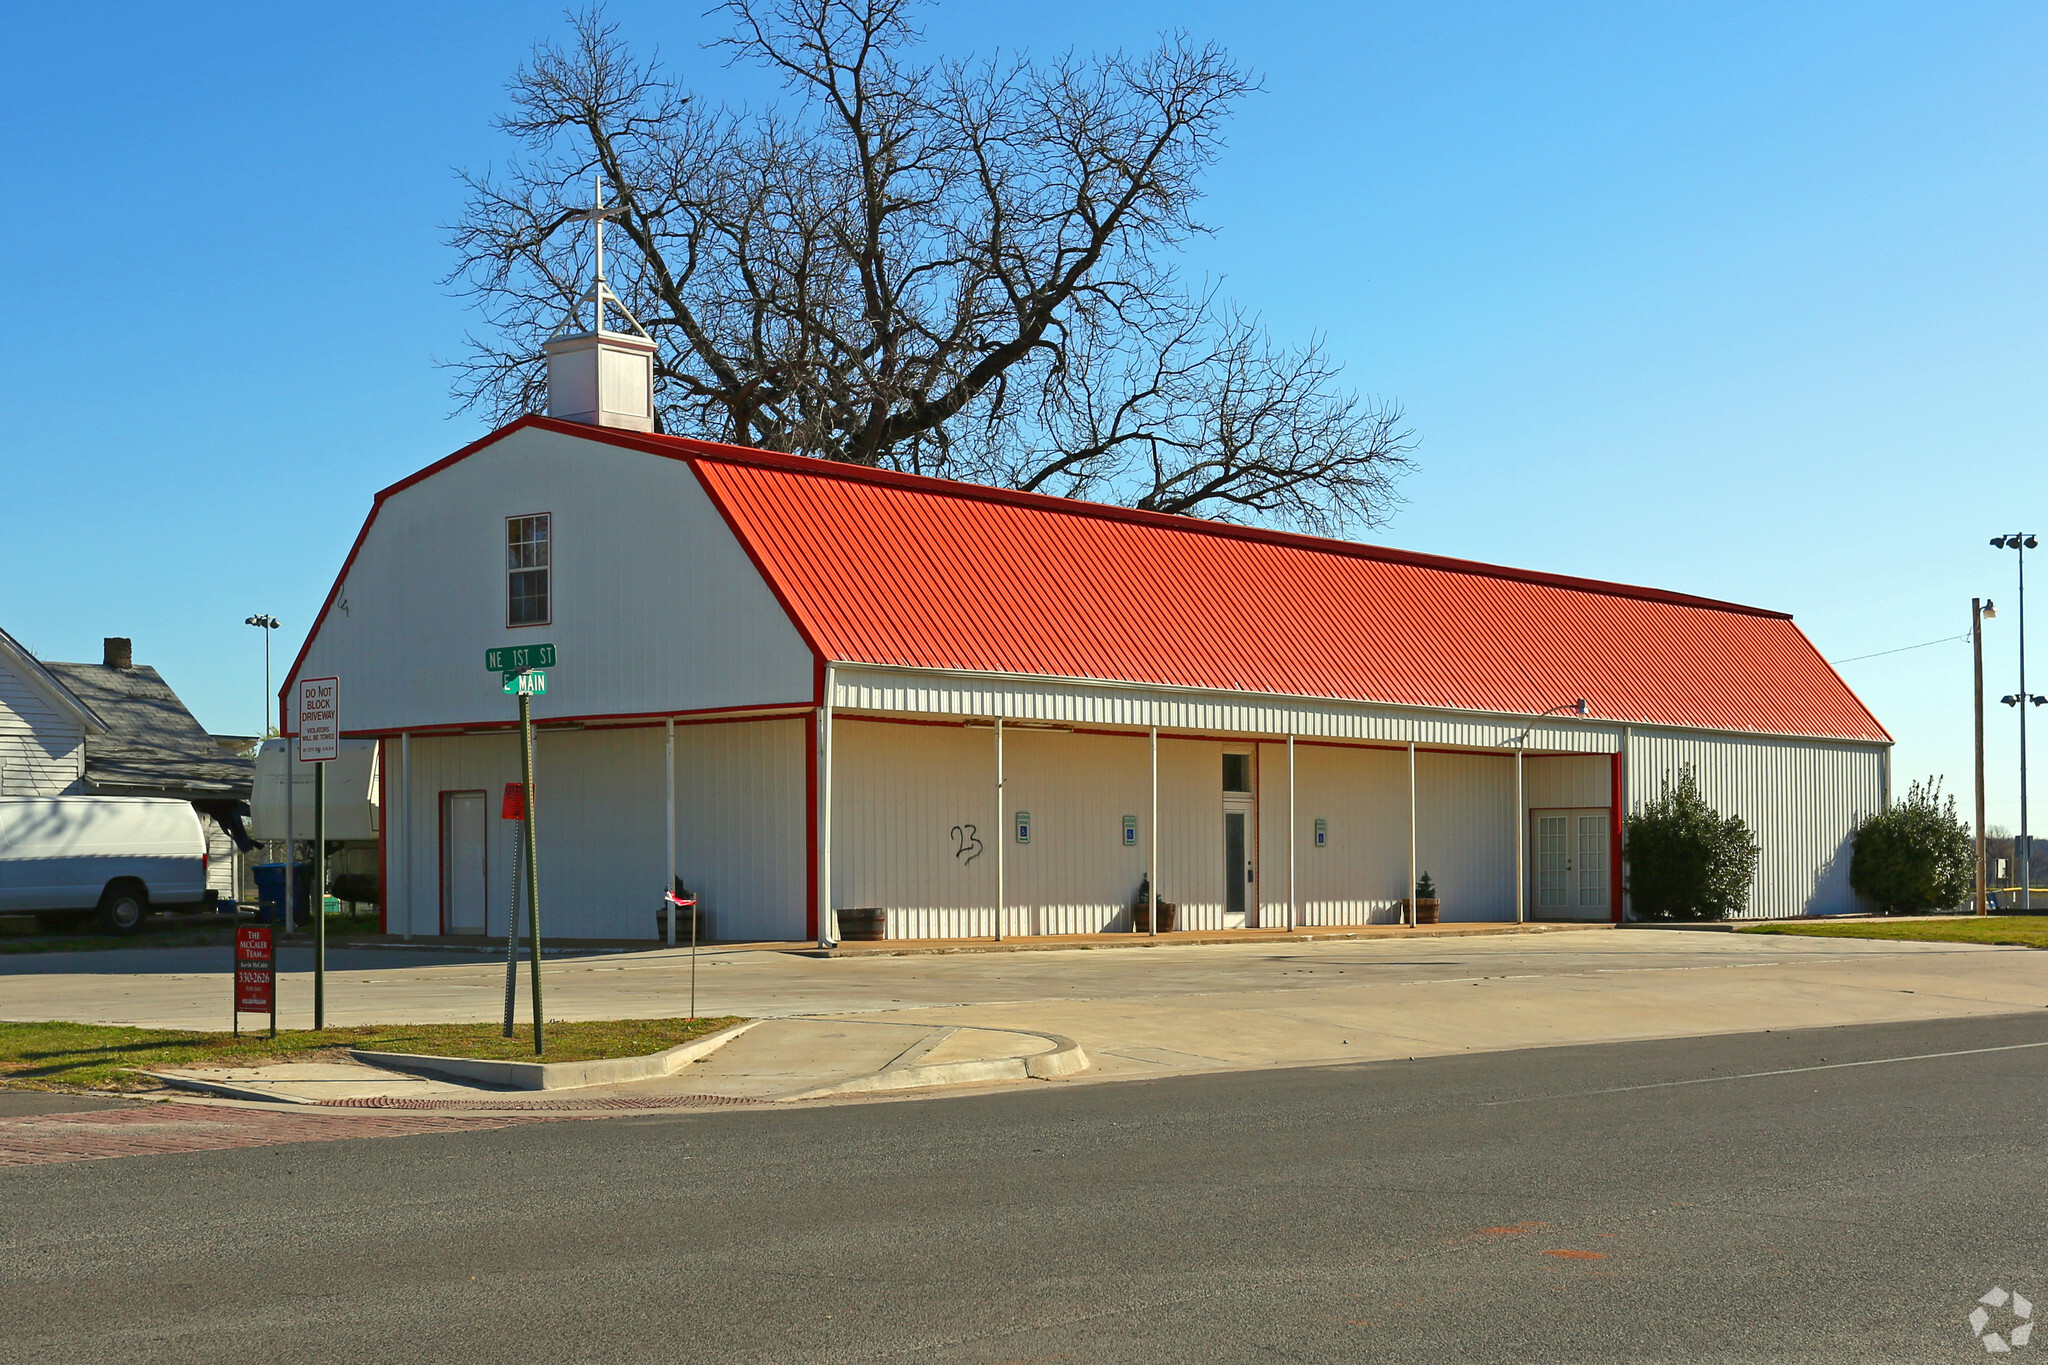
[[[555,620],[510,630],[504,518],[522,512],[555,518]],[[543,720],[813,692],[809,647],[688,465],[537,430],[385,501],[301,675],[342,679],[348,731],[475,724],[512,714],[483,651],[539,641],[561,651]]]

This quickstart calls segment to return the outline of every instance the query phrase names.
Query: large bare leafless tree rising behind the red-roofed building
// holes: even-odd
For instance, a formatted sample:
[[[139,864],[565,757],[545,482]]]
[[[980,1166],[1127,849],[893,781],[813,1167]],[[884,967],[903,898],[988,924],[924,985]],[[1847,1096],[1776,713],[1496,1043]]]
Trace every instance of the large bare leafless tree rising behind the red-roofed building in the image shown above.
[[[729,57],[791,94],[754,113],[692,98],[596,10],[537,47],[500,121],[524,156],[465,178],[453,229],[451,280],[489,321],[463,403],[541,405],[596,174],[625,209],[606,274],[657,342],[662,430],[1157,512],[1384,522],[1401,409],[1174,270],[1253,82],[1182,35],[915,61],[913,2],[729,0]]]

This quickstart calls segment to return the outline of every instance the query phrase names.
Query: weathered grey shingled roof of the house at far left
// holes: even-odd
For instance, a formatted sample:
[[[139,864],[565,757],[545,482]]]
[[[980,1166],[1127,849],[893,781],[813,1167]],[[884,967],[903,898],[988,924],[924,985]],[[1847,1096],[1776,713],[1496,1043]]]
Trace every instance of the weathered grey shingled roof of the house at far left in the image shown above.
[[[248,800],[254,759],[223,753],[156,669],[45,663],[100,720],[86,737],[86,782],[104,792]]]

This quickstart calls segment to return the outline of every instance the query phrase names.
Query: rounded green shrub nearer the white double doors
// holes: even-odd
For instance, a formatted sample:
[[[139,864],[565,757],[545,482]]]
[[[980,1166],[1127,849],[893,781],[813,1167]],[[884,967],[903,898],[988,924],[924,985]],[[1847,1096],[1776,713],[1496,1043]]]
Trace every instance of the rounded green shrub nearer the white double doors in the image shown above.
[[[1726,919],[1749,905],[1761,851],[1743,817],[1706,804],[1688,763],[1628,821],[1628,898],[1638,919]]]

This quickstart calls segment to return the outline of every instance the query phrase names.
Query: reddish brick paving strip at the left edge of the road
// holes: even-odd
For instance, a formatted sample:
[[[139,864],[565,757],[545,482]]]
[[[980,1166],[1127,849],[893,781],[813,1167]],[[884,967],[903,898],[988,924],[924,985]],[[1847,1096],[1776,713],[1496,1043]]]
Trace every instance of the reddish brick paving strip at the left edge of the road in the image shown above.
[[[0,1117],[0,1166],[219,1152],[283,1142],[336,1142],[340,1138],[414,1138],[547,1121],[545,1113],[305,1113],[147,1103],[133,1109]]]

